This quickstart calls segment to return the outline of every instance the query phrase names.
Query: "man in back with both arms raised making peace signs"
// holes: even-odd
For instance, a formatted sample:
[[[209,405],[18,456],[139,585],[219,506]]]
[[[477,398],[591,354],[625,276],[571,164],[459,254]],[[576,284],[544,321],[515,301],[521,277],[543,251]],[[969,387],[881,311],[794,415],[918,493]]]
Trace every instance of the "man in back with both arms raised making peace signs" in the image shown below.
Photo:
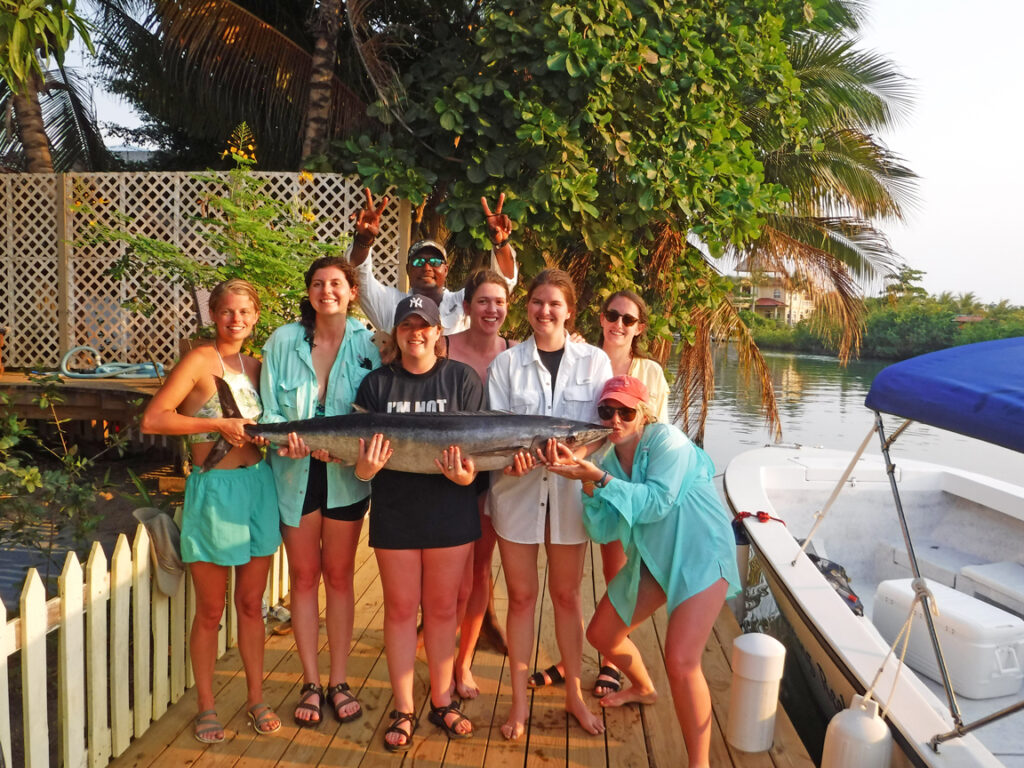
[[[406,268],[409,271],[410,291],[402,293],[396,288],[381,285],[374,276],[372,251],[374,241],[380,232],[381,214],[387,207],[388,198],[380,205],[374,204],[373,194],[366,189],[367,199],[350,218],[355,221],[355,238],[348,250],[348,260],[356,267],[359,276],[359,306],[370,322],[379,330],[390,330],[395,325],[394,309],[407,296],[421,294],[432,298],[440,312],[440,325],[444,334],[459,333],[469,328],[469,318],[462,306],[463,291],[449,291],[444,287],[447,279],[447,252],[444,246],[433,240],[421,240],[409,249]],[[498,199],[498,206],[492,212],[486,198],[481,198],[484,221],[493,248],[490,268],[508,282],[509,290],[518,279],[515,250],[509,245],[512,221],[502,213],[505,195]]]

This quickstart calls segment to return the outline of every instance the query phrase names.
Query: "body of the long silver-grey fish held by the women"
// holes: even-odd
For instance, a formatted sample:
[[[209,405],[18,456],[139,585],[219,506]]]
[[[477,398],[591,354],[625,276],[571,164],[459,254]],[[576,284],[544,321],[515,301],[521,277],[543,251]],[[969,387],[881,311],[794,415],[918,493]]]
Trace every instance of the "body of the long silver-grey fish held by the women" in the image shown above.
[[[588,424],[550,416],[519,416],[495,411],[433,414],[368,414],[328,416],[281,424],[247,425],[246,432],[265,437],[275,445],[288,443],[295,432],[313,451],[325,449],[346,464],[355,464],[359,438],[369,441],[380,432],[391,441],[394,455],[386,468],[399,472],[438,474],[434,459],[441,451],[458,445],[476,469],[501,469],[512,463],[519,451],[543,447],[549,437],[578,446],[604,438],[611,432],[600,424]],[[536,454],[535,454],[536,456]]]

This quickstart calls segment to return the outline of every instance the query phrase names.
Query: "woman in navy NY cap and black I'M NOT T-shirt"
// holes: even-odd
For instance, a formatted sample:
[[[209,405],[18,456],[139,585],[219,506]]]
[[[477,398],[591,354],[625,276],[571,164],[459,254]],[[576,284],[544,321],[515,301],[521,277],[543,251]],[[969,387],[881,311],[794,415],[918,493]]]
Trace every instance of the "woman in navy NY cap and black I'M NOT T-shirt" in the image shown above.
[[[479,411],[483,385],[469,367],[439,357],[443,329],[437,304],[408,296],[395,309],[392,336],[398,358],[362,380],[355,402],[381,414]],[[480,538],[476,468],[458,445],[434,460],[439,474],[387,468],[390,442],[375,434],[360,440],[357,480],[373,480],[370,546],[384,593],[384,649],[394,694],[384,734],[390,752],[407,752],[416,727],[413,700],[417,613],[423,609],[423,644],[430,674],[429,720],[449,738],[468,738],[472,724],[452,700],[459,585],[473,542]],[[376,479],[375,479],[376,478]]]

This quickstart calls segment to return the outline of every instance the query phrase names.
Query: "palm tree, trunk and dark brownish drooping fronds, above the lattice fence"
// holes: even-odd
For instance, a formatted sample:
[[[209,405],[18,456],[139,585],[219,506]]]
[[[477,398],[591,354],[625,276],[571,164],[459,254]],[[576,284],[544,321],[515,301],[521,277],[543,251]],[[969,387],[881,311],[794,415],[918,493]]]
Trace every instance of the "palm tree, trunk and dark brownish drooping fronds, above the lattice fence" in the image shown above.
[[[354,56],[337,55],[339,0],[96,4],[112,90],[194,139],[219,145],[246,121],[260,166],[294,169],[328,139],[372,128],[348,85],[361,82],[346,75]]]

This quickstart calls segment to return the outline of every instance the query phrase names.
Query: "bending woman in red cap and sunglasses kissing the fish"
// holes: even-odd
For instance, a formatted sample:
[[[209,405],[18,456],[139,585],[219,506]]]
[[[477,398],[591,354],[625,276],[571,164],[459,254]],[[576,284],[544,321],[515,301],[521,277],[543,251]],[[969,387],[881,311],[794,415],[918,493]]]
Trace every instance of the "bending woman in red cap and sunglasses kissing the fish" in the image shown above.
[[[731,520],[715,467],[675,426],[654,423],[647,387],[616,376],[598,415],[610,443],[589,462],[558,443],[548,471],[583,481],[584,524],[596,542],[620,542],[627,560],[608,583],[587,638],[631,685],[602,707],[653,703],[657,691],[630,632],[668,603],[665,662],[691,768],[710,765],[711,694],[700,656],[727,596],[739,591]]]

